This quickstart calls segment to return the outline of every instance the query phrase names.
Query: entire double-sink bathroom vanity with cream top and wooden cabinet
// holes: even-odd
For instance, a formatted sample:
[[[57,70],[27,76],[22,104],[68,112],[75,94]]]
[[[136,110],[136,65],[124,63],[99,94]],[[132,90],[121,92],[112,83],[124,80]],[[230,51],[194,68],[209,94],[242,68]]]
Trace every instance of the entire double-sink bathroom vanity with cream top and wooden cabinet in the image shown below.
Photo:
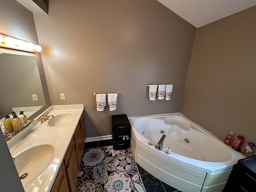
[[[83,111],[84,105],[51,106],[7,141],[25,192],[75,190],[86,137]],[[41,123],[47,112],[54,118]]]

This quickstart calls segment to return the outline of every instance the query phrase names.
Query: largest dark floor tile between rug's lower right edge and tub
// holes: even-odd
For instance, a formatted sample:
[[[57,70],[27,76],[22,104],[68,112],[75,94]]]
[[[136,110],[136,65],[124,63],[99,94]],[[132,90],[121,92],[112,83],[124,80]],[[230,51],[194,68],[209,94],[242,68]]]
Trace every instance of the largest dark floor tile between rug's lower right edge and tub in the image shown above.
[[[165,192],[160,180],[151,174],[141,175],[146,192]]]

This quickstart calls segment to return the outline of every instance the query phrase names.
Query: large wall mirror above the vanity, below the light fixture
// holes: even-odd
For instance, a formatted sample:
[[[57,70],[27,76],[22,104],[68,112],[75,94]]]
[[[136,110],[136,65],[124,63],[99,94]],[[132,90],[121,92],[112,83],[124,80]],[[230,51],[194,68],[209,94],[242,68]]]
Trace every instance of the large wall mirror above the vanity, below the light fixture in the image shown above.
[[[21,110],[31,116],[45,106],[36,54],[0,54],[0,82],[0,119]]]

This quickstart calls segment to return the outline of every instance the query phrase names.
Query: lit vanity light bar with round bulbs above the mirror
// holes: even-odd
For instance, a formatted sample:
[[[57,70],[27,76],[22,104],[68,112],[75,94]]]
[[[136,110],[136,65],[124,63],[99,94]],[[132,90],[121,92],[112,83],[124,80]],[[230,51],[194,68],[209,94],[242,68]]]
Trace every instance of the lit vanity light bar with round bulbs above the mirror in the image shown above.
[[[0,47],[28,51],[33,53],[40,52],[42,50],[39,45],[34,45],[31,42],[26,42],[3,34],[0,34]]]

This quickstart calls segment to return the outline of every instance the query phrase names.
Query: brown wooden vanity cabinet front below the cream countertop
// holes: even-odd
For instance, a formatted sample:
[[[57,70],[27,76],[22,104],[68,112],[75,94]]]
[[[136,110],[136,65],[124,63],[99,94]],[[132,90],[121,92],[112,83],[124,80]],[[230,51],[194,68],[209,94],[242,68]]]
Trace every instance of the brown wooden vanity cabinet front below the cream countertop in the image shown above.
[[[75,191],[78,167],[83,154],[85,137],[84,116],[82,115],[70,141],[51,192]]]

